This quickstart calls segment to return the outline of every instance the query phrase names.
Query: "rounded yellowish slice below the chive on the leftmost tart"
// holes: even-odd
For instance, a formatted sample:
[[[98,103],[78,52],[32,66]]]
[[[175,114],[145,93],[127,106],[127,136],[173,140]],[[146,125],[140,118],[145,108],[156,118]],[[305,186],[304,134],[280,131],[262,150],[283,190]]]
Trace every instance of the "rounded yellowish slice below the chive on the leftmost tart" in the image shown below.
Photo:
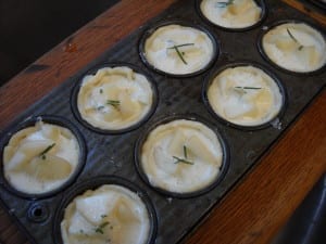
[[[46,154],[45,157],[34,157],[25,170],[38,180],[51,181],[67,178],[72,172],[72,166],[62,157]]]

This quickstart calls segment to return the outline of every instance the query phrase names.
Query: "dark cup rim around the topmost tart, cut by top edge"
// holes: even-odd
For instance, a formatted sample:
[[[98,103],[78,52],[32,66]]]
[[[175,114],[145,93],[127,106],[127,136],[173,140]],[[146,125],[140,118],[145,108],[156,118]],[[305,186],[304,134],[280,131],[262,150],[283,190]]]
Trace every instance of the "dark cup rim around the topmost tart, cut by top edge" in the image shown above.
[[[262,9],[262,12],[261,12],[261,17],[260,20],[254,23],[253,25],[251,26],[248,26],[248,27],[241,27],[241,28],[230,28],[230,27],[225,27],[225,26],[221,26],[221,25],[217,25],[215,23],[213,23],[212,21],[210,21],[201,11],[200,9],[200,4],[202,2],[202,0],[196,0],[196,10],[197,10],[197,13],[199,14],[199,16],[201,18],[203,18],[206,23],[209,23],[210,25],[212,26],[215,26],[222,30],[225,30],[225,31],[230,31],[230,33],[241,33],[241,31],[248,31],[248,30],[251,30],[251,29],[254,29],[256,28],[258,26],[260,26],[264,20],[266,18],[267,16],[267,7],[266,7],[266,3],[265,3],[265,0],[254,0],[255,3]]]

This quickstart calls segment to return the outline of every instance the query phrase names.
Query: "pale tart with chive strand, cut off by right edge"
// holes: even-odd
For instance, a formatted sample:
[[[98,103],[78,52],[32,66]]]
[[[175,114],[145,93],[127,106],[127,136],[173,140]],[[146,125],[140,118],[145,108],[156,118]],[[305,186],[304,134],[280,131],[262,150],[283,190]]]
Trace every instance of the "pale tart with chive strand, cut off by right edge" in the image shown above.
[[[267,56],[288,70],[313,72],[326,63],[326,42],[306,24],[288,23],[266,33],[262,44]]]

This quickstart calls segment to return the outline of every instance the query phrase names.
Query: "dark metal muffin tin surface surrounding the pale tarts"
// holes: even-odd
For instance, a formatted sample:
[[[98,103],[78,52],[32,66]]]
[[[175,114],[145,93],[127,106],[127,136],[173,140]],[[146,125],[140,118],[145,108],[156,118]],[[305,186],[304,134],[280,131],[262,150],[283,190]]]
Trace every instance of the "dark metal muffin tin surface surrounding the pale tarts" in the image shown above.
[[[180,0],[159,16],[130,34],[115,47],[89,63],[86,67],[65,80],[60,87],[52,90],[43,99],[18,115],[8,129],[1,132],[0,150],[5,145],[8,133],[16,125],[23,125],[30,116],[55,115],[65,117],[78,128],[87,144],[86,164],[80,175],[66,190],[42,198],[25,198],[8,191],[3,176],[0,177],[0,198],[8,213],[28,235],[32,242],[54,244],[52,227],[55,223],[54,215],[59,206],[66,201],[77,183],[97,179],[99,176],[117,176],[128,179],[145,192],[153,203],[158,216],[158,244],[178,243],[206,216],[206,214],[222,200],[239,180],[259,164],[266,153],[291,123],[298,118],[306,105],[318,94],[326,85],[325,73],[309,76],[292,76],[285,73],[264,60],[258,49],[259,35],[268,29],[279,20],[298,20],[311,22],[310,17],[291,9],[280,1],[266,1],[268,11],[264,22],[247,31],[224,31],[215,26],[206,25],[196,10],[197,1]],[[170,77],[148,68],[139,55],[139,42],[148,29],[166,21],[185,21],[203,26],[221,44],[220,55],[214,64],[204,73],[191,77]],[[318,26],[318,24],[315,24]],[[261,130],[243,130],[221,123],[211,115],[202,101],[202,85],[205,77],[225,65],[243,60],[250,60],[266,66],[283,82],[288,94],[288,105],[281,117],[275,118],[267,127]],[[121,134],[103,134],[85,127],[75,118],[72,92],[84,74],[103,63],[128,62],[137,65],[145,73],[149,73],[158,86],[158,106],[153,115],[140,127]],[[162,118],[184,114],[200,115],[208,120],[215,130],[221,131],[229,145],[229,167],[225,177],[211,191],[199,196],[177,198],[166,196],[153,190],[139,176],[135,165],[135,144],[138,138]],[[2,158],[1,158],[2,160]],[[89,184],[91,187],[91,184]],[[58,215],[58,214],[57,214]],[[176,218],[177,216],[177,218]]]

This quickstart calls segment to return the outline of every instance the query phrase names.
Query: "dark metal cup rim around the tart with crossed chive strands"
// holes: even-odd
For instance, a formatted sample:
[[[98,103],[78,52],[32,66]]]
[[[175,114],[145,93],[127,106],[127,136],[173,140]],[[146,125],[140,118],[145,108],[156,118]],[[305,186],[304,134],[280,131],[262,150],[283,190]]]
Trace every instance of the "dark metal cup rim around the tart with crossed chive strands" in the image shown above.
[[[212,57],[210,60],[210,62],[202,67],[199,70],[192,72],[192,73],[188,73],[188,74],[173,74],[173,73],[166,73],[158,67],[155,67],[154,65],[152,65],[148,59],[146,57],[146,51],[145,51],[145,44],[146,44],[146,40],[159,28],[164,27],[164,26],[168,26],[168,25],[180,25],[183,27],[191,27],[195,29],[198,29],[200,31],[203,31],[205,35],[208,35],[208,37],[210,38],[210,40],[212,41],[213,44],[213,54]],[[197,22],[190,22],[190,21],[186,21],[186,20],[181,20],[181,18],[175,18],[175,20],[168,20],[168,21],[160,21],[156,22],[154,25],[149,26],[148,28],[146,28],[141,34],[140,37],[138,38],[138,54],[140,56],[141,62],[152,72],[154,72],[155,74],[160,74],[166,77],[172,77],[172,78],[189,78],[189,77],[195,77],[198,76],[206,70],[209,70],[212,65],[215,63],[215,61],[218,59],[221,53],[221,41],[220,39],[216,37],[215,34],[213,34],[212,31],[210,31],[204,25],[200,25]]]

